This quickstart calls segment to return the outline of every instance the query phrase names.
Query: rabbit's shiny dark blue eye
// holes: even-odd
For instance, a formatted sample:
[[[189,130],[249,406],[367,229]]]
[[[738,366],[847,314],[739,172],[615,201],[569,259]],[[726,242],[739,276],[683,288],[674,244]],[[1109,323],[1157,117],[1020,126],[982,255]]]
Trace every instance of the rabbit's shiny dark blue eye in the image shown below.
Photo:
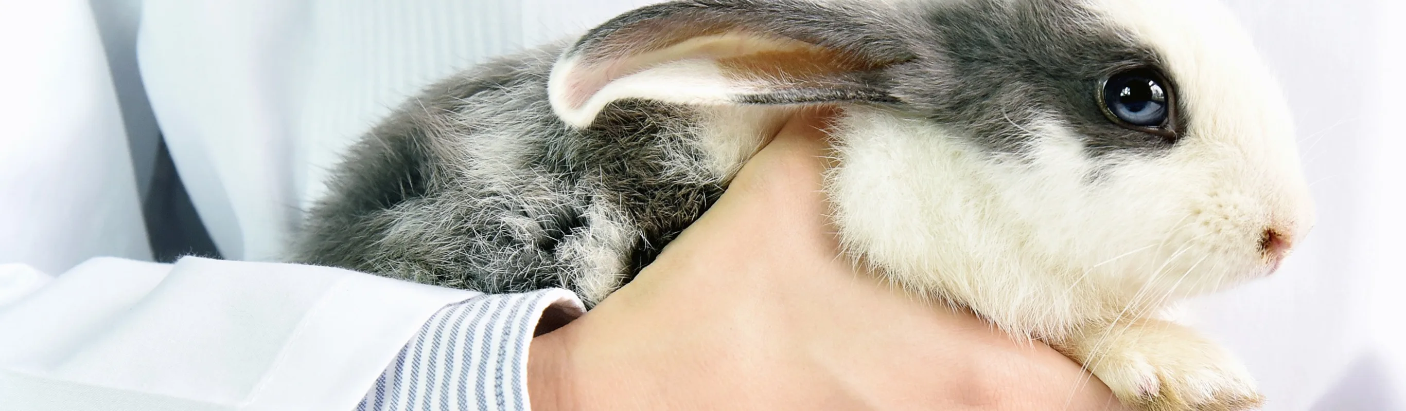
[[[1152,69],[1109,76],[1098,90],[1104,115],[1114,123],[1161,136],[1174,136],[1171,86]]]

